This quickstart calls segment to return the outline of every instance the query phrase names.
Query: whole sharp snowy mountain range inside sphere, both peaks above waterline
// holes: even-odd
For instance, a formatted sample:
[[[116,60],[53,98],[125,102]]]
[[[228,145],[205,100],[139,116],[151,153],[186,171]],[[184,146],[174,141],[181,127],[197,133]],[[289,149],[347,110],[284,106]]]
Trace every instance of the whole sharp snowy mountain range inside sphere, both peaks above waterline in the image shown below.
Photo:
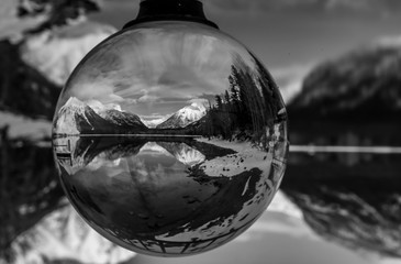
[[[192,103],[175,112],[165,122],[158,124],[158,130],[182,129],[192,124],[205,116],[205,108],[199,103]],[[59,109],[54,124],[57,134],[125,134],[146,133],[151,129],[146,127],[142,119],[126,111],[120,106],[109,103],[102,105],[100,101],[90,100],[82,102],[75,97],[70,97]]]

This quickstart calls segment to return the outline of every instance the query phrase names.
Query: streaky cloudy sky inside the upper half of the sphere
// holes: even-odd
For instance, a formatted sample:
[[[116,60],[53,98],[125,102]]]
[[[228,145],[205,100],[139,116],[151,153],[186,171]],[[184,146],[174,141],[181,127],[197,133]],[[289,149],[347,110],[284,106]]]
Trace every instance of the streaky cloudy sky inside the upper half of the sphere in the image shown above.
[[[255,67],[245,48],[209,26],[160,25],[101,44],[75,72],[65,99],[119,103],[145,120],[159,119],[192,103],[214,103],[230,87],[235,56]]]

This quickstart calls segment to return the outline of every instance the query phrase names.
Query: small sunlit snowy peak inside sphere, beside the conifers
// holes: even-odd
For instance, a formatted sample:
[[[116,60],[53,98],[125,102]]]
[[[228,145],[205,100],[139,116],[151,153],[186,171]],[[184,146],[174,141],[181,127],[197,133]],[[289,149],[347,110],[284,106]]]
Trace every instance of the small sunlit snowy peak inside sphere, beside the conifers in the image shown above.
[[[203,118],[207,113],[207,109],[203,105],[193,102],[190,106],[183,107],[175,112],[165,122],[157,125],[157,129],[179,129],[185,128],[188,124],[196,122]]]

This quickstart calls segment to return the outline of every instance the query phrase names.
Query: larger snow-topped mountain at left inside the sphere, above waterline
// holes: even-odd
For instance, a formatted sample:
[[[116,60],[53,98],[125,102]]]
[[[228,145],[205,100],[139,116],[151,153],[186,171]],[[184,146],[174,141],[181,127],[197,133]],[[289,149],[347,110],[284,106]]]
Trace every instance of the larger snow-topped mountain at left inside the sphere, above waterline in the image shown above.
[[[136,133],[146,130],[140,117],[115,107],[92,103],[94,109],[71,97],[59,109],[54,131],[57,134]]]

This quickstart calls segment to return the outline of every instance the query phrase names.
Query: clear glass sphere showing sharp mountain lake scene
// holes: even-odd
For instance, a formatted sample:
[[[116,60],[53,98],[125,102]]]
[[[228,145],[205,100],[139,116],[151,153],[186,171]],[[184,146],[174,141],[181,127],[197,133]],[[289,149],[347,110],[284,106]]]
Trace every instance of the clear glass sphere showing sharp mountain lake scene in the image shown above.
[[[93,48],[53,123],[62,185],[99,233],[151,255],[234,239],[266,210],[288,152],[270,74],[211,26],[141,23]]]

